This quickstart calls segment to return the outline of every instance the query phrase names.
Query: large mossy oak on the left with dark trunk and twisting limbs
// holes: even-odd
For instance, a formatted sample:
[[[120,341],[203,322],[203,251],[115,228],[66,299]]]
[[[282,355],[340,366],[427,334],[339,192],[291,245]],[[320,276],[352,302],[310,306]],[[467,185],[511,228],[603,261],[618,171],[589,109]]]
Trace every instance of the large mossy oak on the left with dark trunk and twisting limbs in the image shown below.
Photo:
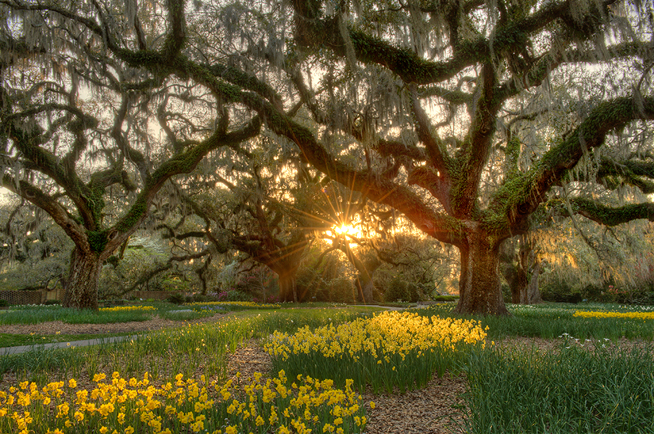
[[[147,16],[135,1],[125,6],[0,3],[2,186],[74,242],[70,307],[97,309],[103,262],[167,180],[260,129],[256,115],[231,121],[230,101],[211,83],[156,67],[185,45],[182,3],[163,15],[152,3]]]

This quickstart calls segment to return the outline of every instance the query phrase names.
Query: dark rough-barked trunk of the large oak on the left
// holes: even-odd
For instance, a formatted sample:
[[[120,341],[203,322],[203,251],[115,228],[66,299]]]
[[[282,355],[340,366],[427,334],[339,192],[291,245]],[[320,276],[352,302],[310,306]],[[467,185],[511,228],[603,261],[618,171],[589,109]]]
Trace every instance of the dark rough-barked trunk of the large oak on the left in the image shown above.
[[[98,253],[74,248],[63,306],[98,310],[98,282],[101,270],[102,261]]]

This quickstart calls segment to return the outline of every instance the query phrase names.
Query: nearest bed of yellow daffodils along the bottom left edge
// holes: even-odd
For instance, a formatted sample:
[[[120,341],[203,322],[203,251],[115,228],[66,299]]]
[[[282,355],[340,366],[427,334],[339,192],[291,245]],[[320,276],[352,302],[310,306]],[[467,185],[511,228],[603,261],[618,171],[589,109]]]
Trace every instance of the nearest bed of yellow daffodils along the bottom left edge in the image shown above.
[[[361,396],[335,389],[331,380],[297,376],[289,384],[277,378],[254,378],[224,385],[184,380],[161,386],[129,380],[114,372],[94,376],[94,389],[78,388],[74,378],[39,389],[21,382],[0,391],[1,433],[362,433],[366,411]],[[371,403],[374,406],[374,404]],[[46,431],[47,430],[47,431]]]

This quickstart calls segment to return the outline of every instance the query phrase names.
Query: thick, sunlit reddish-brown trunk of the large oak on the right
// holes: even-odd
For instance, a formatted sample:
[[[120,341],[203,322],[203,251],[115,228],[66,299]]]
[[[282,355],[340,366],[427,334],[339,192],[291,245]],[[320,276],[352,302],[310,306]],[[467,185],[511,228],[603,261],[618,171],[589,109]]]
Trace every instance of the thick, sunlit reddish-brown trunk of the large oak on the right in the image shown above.
[[[456,312],[510,315],[500,287],[500,242],[483,232],[471,232],[468,243],[458,246],[461,276]]]

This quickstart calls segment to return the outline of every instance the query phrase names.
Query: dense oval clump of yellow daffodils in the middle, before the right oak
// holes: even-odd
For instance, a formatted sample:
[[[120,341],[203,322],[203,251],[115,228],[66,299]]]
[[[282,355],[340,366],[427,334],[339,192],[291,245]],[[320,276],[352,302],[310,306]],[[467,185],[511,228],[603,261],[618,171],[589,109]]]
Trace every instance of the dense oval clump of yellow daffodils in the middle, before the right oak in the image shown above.
[[[273,366],[286,371],[333,378],[352,378],[359,389],[371,384],[404,391],[426,384],[434,371],[455,369],[470,349],[483,347],[486,332],[480,323],[410,312],[383,312],[338,326],[295,334],[275,332],[265,349]]]

